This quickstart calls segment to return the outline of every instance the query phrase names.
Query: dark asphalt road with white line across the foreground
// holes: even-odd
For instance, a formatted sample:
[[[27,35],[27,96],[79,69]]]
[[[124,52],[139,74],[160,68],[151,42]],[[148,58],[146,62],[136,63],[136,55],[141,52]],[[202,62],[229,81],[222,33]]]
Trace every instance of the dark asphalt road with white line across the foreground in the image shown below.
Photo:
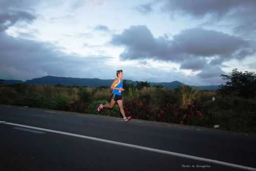
[[[256,170],[255,135],[10,105],[0,121],[1,170]]]

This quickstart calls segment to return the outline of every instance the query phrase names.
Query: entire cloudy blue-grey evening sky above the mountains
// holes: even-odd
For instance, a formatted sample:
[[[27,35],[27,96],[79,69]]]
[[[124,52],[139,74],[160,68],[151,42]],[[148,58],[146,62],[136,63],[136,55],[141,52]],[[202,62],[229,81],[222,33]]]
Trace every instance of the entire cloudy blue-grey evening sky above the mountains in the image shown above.
[[[224,83],[256,72],[255,0],[0,0],[0,78]]]

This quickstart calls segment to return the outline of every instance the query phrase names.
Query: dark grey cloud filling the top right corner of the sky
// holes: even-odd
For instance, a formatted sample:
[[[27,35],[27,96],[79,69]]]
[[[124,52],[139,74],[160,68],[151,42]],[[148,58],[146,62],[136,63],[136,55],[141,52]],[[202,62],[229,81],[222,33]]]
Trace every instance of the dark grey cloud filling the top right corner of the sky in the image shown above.
[[[195,19],[208,17],[207,25],[214,25],[216,22],[224,21],[233,23],[231,29],[234,33],[248,36],[256,34],[256,1],[255,0],[169,0],[163,1],[162,11],[175,14],[187,15]]]

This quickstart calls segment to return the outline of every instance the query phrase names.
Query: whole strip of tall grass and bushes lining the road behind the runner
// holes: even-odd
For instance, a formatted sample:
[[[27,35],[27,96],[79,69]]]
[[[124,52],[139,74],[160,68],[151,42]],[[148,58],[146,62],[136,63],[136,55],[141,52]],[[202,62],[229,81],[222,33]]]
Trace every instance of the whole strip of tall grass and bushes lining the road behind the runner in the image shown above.
[[[120,117],[118,105],[97,112],[97,106],[110,99],[109,88],[0,85],[2,104]],[[215,91],[185,86],[175,90],[130,87],[123,92],[123,104],[126,115],[133,118],[207,127],[220,124],[223,130],[256,133],[256,99],[221,97]]]

